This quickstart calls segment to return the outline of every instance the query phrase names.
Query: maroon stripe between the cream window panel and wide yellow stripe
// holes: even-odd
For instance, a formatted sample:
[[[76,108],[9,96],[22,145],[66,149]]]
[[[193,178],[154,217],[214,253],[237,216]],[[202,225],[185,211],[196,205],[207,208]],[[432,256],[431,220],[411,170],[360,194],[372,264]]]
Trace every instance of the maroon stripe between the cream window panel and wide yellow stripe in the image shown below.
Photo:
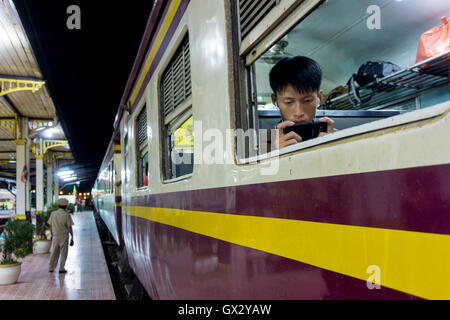
[[[175,208],[450,234],[450,165],[135,197]]]

